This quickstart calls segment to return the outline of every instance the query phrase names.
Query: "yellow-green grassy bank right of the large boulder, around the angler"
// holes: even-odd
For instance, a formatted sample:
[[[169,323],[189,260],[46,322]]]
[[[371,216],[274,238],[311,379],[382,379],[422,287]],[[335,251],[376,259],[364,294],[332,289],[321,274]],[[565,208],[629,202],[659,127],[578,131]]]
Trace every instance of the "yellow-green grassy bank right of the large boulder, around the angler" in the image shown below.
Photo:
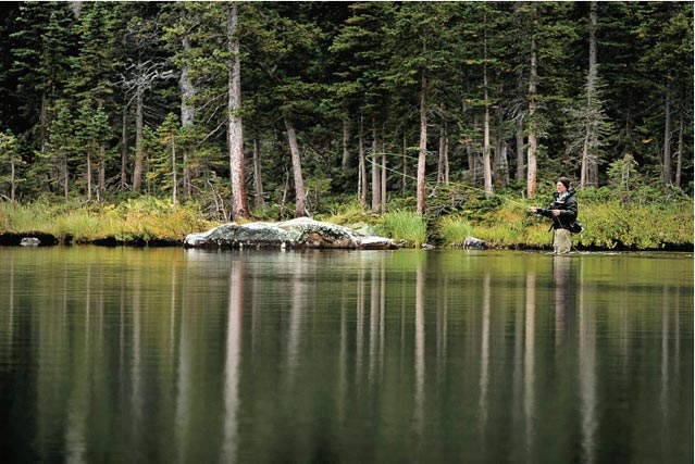
[[[447,195],[450,197],[450,193]],[[538,198],[550,196],[551,192],[547,191]],[[432,201],[433,209],[436,209],[436,201]],[[693,248],[693,199],[682,192],[665,196],[645,188],[628,198],[606,188],[588,189],[579,193],[579,202],[580,221],[584,225],[584,231],[575,235],[573,240],[579,249]],[[545,205],[546,202],[511,196],[496,196],[488,200],[469,197],[456,208],[439,209],[443,212],[436,215],[420,217],[408,210],[397,210],[375,218],[374,223],[378,231],[409,246],[430,242],[444,248],[461,248],[466,238],[472,236],[494,248],[548,249],[553,241],[549,221],[528,213],[529,206],[538,204]],[[356,211],[359,213],[355,205],[348,205],[327,216],[326,221],[349,224],[349,213]],[[363,221],[363,215],[357,214],[352,220]],[[394,223],[410,225],[394,227]]]

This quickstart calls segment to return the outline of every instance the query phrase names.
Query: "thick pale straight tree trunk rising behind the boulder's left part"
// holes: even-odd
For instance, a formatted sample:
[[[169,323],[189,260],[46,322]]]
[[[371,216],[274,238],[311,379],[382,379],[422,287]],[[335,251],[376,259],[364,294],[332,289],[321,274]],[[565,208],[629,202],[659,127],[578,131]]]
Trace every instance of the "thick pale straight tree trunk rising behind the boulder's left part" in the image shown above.
[[[239,38],[237,35],[238,14],[236,3],[227,10],[228,101],[227,141],[229,149],[229,180],[232,184],[232,217],[234,221],[248,216],[246,190],[244,188],[244,126],[239,110],[241,108],[241,61],[239,58]]]

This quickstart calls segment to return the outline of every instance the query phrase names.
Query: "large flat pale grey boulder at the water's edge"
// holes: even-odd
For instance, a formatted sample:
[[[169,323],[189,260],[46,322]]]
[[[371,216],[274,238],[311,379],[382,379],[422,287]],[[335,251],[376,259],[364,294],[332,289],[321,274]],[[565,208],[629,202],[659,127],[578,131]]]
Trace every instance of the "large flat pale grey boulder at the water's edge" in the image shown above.
[[[202,234],[189,234],[186,248],[345,248],[392,250],[396,242],[364,236],[348,227],[299,217],[282,223],[229,223]]]

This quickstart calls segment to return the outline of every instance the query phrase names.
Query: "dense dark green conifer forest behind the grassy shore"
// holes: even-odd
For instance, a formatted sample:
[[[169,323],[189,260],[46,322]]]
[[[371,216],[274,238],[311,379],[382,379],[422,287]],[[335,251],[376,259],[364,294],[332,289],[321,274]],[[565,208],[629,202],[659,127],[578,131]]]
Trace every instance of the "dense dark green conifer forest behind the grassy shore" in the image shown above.
[[[431,223],[480,220],[500,198],[545,202],[563,175],[589,202],[670,201],[692,224],[692,2],[42,1],[0,14],[2,203],[147,198],[210,221],[350,204]]]

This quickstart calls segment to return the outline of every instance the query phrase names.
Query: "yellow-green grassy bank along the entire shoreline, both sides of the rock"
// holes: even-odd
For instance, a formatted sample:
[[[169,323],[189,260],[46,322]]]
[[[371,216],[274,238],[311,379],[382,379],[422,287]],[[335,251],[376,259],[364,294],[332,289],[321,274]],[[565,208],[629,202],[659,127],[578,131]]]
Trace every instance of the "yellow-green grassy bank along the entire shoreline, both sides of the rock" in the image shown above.
[[[549,196],[549,195],[548,195]],[[545,197],[542,197],[545,198]],[[635,195],[611,198],[606,190],[580,192],[580,220],[585,230],[574,236],[579,249],[686,250],[693,247],[693,200],[684,195]],[[526,212],[524,199],[497,196],[467,198],[456,208],[432,210],[420,216],[409,204],[394,205],[385,214],[362,209],[355,201],[338,202],[315,218],[387,236],[406,247],[432,243],[461,248],[476,237],[494,248],[547,249],[549,222]],[[450,204],[449,200],[443,204]],[[272,220],[264,217],[260,220]],[[119,204],[35,202],[0,203],[0,234],[44,233],[63,243],[163,244],[181,243],[190,233],[208,230],[218,222],[206,220],[195,205],[175,212],[162,200],[142,197]]]

